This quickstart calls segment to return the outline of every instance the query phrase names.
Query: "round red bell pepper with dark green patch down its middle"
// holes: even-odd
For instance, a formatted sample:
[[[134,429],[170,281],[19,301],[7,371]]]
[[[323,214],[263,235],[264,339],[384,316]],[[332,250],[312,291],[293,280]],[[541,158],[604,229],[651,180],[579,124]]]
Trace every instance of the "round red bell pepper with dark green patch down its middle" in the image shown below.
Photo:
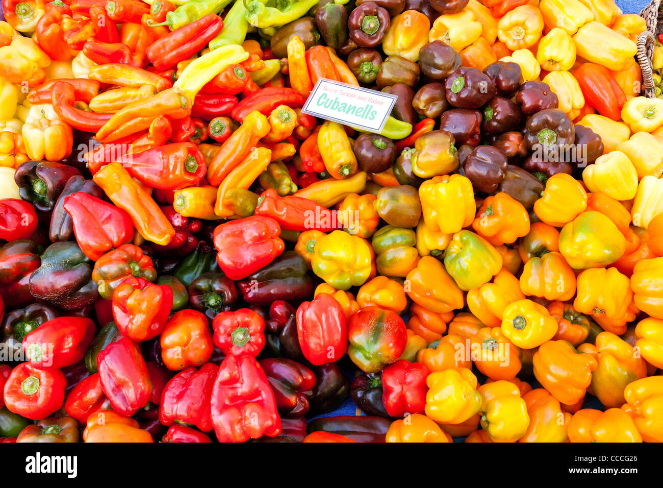
[[[406,327],[396,313],[365,307],[347,325],[350,359],[364,372],[378,372],[400,358],[407,340]]]

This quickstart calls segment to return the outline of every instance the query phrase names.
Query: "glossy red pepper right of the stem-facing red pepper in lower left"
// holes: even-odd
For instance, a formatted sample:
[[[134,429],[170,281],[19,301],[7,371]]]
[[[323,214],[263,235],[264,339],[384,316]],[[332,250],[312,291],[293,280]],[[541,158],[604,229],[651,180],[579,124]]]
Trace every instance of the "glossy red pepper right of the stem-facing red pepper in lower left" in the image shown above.
[[[145,359],[129,339],[123,337],[107,345],[97,355],[99,379],[113,410],[131,417],[147,405],[152,394]]]

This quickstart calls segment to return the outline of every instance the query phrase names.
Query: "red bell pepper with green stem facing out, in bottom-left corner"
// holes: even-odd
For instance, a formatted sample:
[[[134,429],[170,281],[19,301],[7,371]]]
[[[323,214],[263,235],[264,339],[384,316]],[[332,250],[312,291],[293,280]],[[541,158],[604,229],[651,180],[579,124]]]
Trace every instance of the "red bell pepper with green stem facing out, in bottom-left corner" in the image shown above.
[[[59,369],[21,363],[5,383],[5,406],[30,420],[41,420],[60,410],[66,386],[67,380]]]

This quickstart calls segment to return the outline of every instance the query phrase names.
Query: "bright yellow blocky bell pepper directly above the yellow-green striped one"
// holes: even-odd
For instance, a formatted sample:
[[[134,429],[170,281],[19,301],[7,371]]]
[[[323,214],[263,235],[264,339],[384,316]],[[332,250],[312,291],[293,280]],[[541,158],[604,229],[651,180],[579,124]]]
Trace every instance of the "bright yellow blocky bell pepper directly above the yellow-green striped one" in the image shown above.
[[[469,178],[461,175],[436,176],[419,187],[426,226],[453,234],[474,220],[477,205]]]

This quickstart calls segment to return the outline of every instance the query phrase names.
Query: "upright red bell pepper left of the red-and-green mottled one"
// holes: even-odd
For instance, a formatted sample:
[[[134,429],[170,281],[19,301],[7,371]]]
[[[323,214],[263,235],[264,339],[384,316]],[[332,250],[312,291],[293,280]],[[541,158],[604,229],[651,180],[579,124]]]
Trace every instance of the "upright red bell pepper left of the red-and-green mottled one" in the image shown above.
[[[304,301],[296,313],[297,337],[304,357],[313,365],[335,363],[347,351],[345,312],[329,293]]]

